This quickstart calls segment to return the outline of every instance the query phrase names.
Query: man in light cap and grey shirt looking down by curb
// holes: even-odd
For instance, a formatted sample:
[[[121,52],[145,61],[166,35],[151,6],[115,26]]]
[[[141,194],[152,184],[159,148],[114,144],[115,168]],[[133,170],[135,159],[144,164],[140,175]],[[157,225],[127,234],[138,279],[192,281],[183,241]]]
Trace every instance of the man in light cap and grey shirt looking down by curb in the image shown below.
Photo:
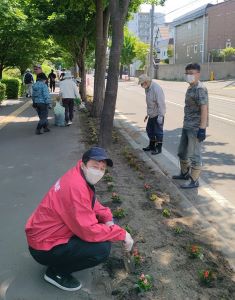
[[[156,82],[143,74],[139,77],[139,84],[145,89],[147,115],[144,122],[147,122],[146,132],[149,138],[149,145],[143,148],[144,151],[151,151],[156,155],[162,152],[163,125],[166,113],[165,95],[162,88]]]

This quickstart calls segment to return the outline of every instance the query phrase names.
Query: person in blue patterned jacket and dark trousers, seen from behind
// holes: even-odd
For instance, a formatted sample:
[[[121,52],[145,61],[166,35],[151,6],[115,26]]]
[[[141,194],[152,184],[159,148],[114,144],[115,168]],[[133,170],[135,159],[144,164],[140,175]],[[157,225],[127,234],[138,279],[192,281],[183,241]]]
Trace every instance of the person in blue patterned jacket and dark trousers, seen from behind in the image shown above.
[[[45,74],[41,73],[37,76],[37,81],[33,85],[33,107],[37,110],[39,122],[36,128],[36,134],[42,134],[41,129],[44,132],[49,132],[48,128],[48,108],[51,104],[51,97],[46,85]]]

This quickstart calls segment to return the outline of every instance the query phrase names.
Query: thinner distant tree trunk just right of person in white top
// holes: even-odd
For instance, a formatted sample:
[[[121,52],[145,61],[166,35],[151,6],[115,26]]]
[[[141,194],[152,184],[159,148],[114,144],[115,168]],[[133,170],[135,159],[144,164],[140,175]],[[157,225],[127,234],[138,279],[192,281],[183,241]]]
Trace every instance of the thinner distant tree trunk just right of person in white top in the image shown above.
[[[79,67],[79,77],[81,78],[82,82],[79,85],[79,92],[81,95],[82,101],[86,101],[86,67],[85,67],[85,53],[86,53],[86,46],[87,41],[86,38],[82,39],[80,44],[79,56],[77,60],[77,64]]]

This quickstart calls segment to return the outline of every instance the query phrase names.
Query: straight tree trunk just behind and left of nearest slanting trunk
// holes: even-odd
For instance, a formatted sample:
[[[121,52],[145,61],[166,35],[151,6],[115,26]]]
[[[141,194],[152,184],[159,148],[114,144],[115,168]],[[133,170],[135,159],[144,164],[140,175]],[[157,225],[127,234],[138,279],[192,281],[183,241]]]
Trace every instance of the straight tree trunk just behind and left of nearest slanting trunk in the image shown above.
[[[103,11],[103,1],[96,0],[96,50],[95,50],[95,82],[91,115],[100,117],[104,105],[106,49],[110,11]]]

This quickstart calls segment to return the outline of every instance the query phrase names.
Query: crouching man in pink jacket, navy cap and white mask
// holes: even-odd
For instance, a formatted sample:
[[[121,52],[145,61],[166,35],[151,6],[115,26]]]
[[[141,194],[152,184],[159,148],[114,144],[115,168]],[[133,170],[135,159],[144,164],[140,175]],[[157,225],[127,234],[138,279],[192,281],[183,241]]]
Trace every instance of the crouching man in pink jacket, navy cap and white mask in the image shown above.
[[[113,162],[103,148],[87,150],[77,165],[50,188],[28,219],[25,231],[32,257],[47,266],[44,279],[65,290],[76,291],[81,283],[73,272],[104,262],[111,242],[133,247],[131,235],[114,224],[113,215],[96,198],[94,185]]]

